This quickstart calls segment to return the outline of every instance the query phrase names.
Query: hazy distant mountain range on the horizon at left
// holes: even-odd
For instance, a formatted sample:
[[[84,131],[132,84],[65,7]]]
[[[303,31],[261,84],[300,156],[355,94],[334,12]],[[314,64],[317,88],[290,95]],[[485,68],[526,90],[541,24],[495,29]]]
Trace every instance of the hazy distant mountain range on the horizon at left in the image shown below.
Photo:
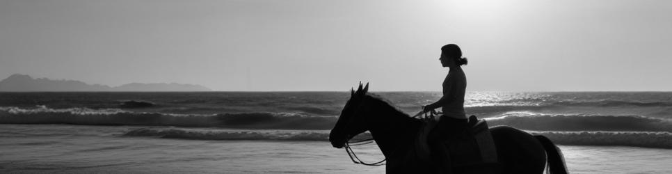
[[[210,91],[209,88],[193,84],[159,83],[141,84],[131,83],[122,86],[105,86],[86,84],[74,80],[51,80],[47,78],[33,79],[29,75],[13,74],[0,81],[0,91],[29,92],[29,91]]]

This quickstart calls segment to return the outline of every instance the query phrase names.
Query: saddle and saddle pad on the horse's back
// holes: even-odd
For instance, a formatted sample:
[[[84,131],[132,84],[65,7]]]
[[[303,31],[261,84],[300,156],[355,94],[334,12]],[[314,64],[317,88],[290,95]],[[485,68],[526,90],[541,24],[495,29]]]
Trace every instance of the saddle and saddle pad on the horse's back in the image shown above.
[[[426,148],[429,153],[446,153],[446,152],[429,152],[429,145],[427,145],[427,136],[429,132],[437,125],[435,119],[424,119],[424,127],[419,132],[419,142],[424,144],[422,148]],[[444,150],[448,150],[451,167],[456,173],[464,173],[466,171],[474,171],[474,168],[491,168],[490,166],[499,165],[497,160],[497,148],[493,140],[488,123],[486,120],[479,120],[476,116],[470,116],[467,123],[469,129],[456,137],[444,141]],[[434,150],[436,151],[436,150]],[[490,169],[488,169],[490,170]],[[493,169],[494,170],[494,169]],[[478,171],[476,173],[490,173]]]

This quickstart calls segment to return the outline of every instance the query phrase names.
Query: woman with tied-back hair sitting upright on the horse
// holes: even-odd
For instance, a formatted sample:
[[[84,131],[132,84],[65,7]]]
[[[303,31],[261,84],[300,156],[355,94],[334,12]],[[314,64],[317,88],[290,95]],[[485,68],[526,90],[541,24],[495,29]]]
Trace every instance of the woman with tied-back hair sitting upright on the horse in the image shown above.
[[[443,116],[435,129],[427,137],[427,141],[433,152],[442,152],[449,155],[447,150],[442,148],[443,141],[454,141],[456,136],[466,135],[467,115],[464,111],[464,95],[467,88],[467,77],[462,70],[462,65],[467,65],[467,58],[462,57],[462,50],[454,44],[441,47],[441,56],[439,58],[443,67],[450,68],[446,79],[443,81],[443,97],[440,100],[422,107],[422,111],[429,112],[441,107]],[[433,161],[443,161],[440,173],[452,173],[449,168],[450,157],[446,155],[433,154]],[[435,162],[436,163],[436,162]]]

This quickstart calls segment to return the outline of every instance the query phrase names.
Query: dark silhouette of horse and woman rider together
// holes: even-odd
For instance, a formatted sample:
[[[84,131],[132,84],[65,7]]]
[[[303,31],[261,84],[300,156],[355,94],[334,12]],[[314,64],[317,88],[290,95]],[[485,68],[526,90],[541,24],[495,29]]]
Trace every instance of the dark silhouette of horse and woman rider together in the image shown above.
[[[380,96],[367,93],[368,83],[360,84],[351,90],[329,134],[331,144],[346,147],[355,161],[349,141],[369,131],[385,156],[387,173],[543,173],[546,166],[547,173],[568,173],[561,151],[545,136],[508,126],[488,127],[475,116],[467,118],[467,79],[461,68],[467,58],[458,45],[449,44],[441,47],[439,60],[449,68],[440,100],[409,116]],[[433,113],[438,108],[442,115],[437,121]],[[417,118],[423,113],[430,116]]]

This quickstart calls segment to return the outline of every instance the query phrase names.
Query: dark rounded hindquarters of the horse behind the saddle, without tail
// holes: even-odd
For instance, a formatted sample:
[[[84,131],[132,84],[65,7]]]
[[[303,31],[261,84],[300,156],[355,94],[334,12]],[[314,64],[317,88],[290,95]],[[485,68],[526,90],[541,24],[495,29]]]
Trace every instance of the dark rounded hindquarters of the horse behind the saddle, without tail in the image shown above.
[[[546,152],[531,134],[509,126],[490,127],[504,173],[543,173]]]

